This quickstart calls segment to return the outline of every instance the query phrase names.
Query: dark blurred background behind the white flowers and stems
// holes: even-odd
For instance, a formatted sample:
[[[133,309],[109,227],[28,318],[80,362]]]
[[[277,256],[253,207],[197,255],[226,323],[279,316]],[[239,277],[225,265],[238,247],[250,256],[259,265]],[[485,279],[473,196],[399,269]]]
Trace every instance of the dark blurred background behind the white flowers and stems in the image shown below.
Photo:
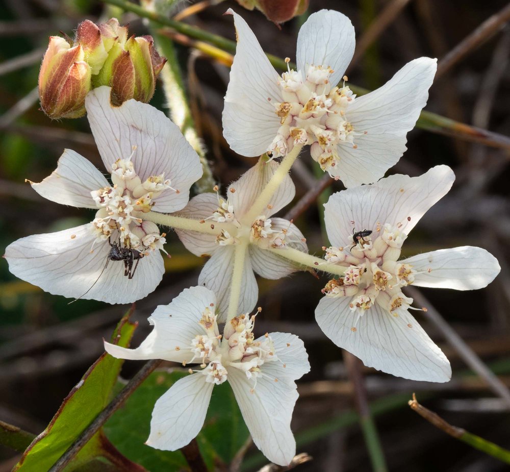
[[[380,21],[390,1],[311,0],[310,12],[321,8],[341,11],[352,20],[358,43],[367,26]],[[481,22],[498,12],[505,2],[474,0],[412,0],[384,28],[380,36],[353,66],[349,80],[369,89],[384,84],[406,62],[420,56],[441,59]],[[278,30],[258,11],[247,12],[233,1],[210,7],[186,21],[234,39],[229,8],[240,12],[256,32],[264,50],[295,59],[295,41],[302,18]],[[77,24],[112,14],[99,2],[84,0],[3,0],[0,3],[0,252],[17,238],[52,232],[90,221],[89,210],[64,207],[39,197],[23,183],[39,182],[56,167],[63,148],[69,147],[102,169],[86,118],[50,121],[38,110],[31,91],[49,35],[63,31],[72,36]],[[119,18],[120,19],[120,18]],[[144,24],[133,15],[121,23],[146,34]],[[205,141],[215,177],[226,187],[253,160],[234,155],[221,136],[222,100],[228,68],[205,57],[190,60],[190,50],[177,46],[181,65],[195,109],[197,128]],[[34,51],[39,50],[39,53]],[[426,109],[503,135],[510,134],[510,29],[495,32],[486,43],[438,78],[430,90]],[[8,71],[14,58],[32,54],[28,65]],[[23,105],[26,105],[23,108]],[[164,97],[157,90],[152,105],[163,109]],[[21,112],[20,112],[21,111]],[[471,292],[427,290],[422,293],[472,349],[497,369],[510,385],[510,285],[508,284],[508,148],[474,144],[463,139],[415,129],[408,135],[408,151],[389,173],[420,175],[437,164],[447,164],[456,174],[451,192],[420,221],[404,245],[403,255],[476,245],[492,252],[502,270],[488,288]],[[310,179],[322,172],[311,159],[301,158],[292,175],[296,200],[309,189]],[[315,177],[314,177],[315,174]],[[342,189],[335,183],[333,190]],[[327,198],[327,195],[325,196]],[[290,207],[289,207],[290,208]],[[313,204],[295,220],[308,239],[311,253],[321,254],[326,243],[320,224],[320,204]],[[288,210],[288,209],[286,209]],[[284,214],[284,210],[282,213]],[[196,284],[203,263],[186,253],[175,234],[169,233],[167,273],[156,291],[137,303],[134,318],[140,321],[137,345],[149,331],[147,316],[158,304],[167,304],[183,288]],[[103,337],[109,337],[125,307],[79,301],[71,307],[60,296],[15,279],[5,261],[0,262],[0,419],[33,433],[44,429],[65,395],[87,367],[103,352]],[[342,362],[342,352],[319,330],[314,309],[321,297],[320,280],[300,272],[279,281],[260,280],[263,316],[257,326],[266,331],[299,335],[310,354],[312,371],[299,383],[293,430],[307,431],[333,415],[354,407],[352,387]],[[508,470],[483,453],[456,441],[412,412],[406,398],[418,399],[453,425],[510,448],[509,407],[495,397],[469,369],[444,334],[431,326],[427,315],[418,320],[452,363],[453,378],[447,384],[428,384],[398,379],[366,369],[371,402],[382,405],[376,415],[382,445],[390,470],[403,472],[485,472]],[[126,362],[123,375],[133,375],[139,363]],[[395,394],[404,393],[397,406]],[[405,395],[407,394],[407,396]],[[386,403],[385,403],[386,401]],[[382,403],[381,403],[382,402]],[[385,406],[386,405],[386,406]],[[147,418],[147,421],[149,419]],[[315,460],[298,470],[370,470],[370,462],[358,426],[339,429],[298,452]],[[248,453],[249,454],[249,453]],[[0,472],[8,471],[16,459],[0,449]]]

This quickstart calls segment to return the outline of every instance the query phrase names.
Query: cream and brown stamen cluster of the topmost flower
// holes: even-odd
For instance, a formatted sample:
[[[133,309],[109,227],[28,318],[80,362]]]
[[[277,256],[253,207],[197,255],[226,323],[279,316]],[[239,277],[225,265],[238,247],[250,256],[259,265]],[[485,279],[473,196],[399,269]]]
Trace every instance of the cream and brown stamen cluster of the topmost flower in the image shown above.
[[[285,156],[297,144],[310,144],[312,158],[330,172],[340,161],[339,143],[357,147],[354,137],[361,133],[346,117],[355,95],[345,85],[346,77],[342,87],[331,87],[332,72],[330,67],[310,65],[306,71],[289,69],[282,74],[284,101],[273,103],[281,126],[267,150],[273,157]]]

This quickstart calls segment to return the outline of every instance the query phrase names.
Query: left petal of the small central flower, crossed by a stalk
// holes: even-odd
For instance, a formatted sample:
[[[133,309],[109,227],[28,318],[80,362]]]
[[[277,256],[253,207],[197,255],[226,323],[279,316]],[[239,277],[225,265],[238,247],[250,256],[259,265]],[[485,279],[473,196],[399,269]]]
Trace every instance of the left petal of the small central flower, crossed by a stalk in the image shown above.
[[[200,193],[194,196],[177,216],[184,216],[192,219],[206,219],[217,210],[218,197],[214,193]],[[211,225],[214,221],[205,222],[204,225]],[[195,256],[210,256],[218,248],[216,236],[212,234],[199,233],[198,231],[175,230],[186,249]]]

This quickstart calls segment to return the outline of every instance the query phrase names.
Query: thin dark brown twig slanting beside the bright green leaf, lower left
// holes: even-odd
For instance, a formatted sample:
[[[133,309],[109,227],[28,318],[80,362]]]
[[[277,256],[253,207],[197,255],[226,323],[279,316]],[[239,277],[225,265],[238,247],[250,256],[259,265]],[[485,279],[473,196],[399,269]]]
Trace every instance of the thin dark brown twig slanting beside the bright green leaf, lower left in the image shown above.
[[[108,406],[99,413],[87,429],[78,437],[69,449],[60,457],[48,472],[60,472],[64,470],[67,464],[83,448],[83,446],[94,436],[97,431],[106,423],[106,421],[118,410],[127,398],[138,388],[138,386],[149,376],[158,365],[160,359],[152,359],[137,372],[137,374],[126,384],[120,393],[108,404]]]

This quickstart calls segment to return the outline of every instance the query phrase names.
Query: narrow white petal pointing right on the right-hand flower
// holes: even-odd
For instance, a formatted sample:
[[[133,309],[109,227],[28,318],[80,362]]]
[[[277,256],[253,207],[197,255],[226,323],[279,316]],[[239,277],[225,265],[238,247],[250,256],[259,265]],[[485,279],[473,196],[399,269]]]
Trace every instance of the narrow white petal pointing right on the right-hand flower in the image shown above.
[[[411,264],[419,272],[413,285],[455,290],[487,287],[501,270],[491,253],[473,246],[432,251],[400,262]]]

